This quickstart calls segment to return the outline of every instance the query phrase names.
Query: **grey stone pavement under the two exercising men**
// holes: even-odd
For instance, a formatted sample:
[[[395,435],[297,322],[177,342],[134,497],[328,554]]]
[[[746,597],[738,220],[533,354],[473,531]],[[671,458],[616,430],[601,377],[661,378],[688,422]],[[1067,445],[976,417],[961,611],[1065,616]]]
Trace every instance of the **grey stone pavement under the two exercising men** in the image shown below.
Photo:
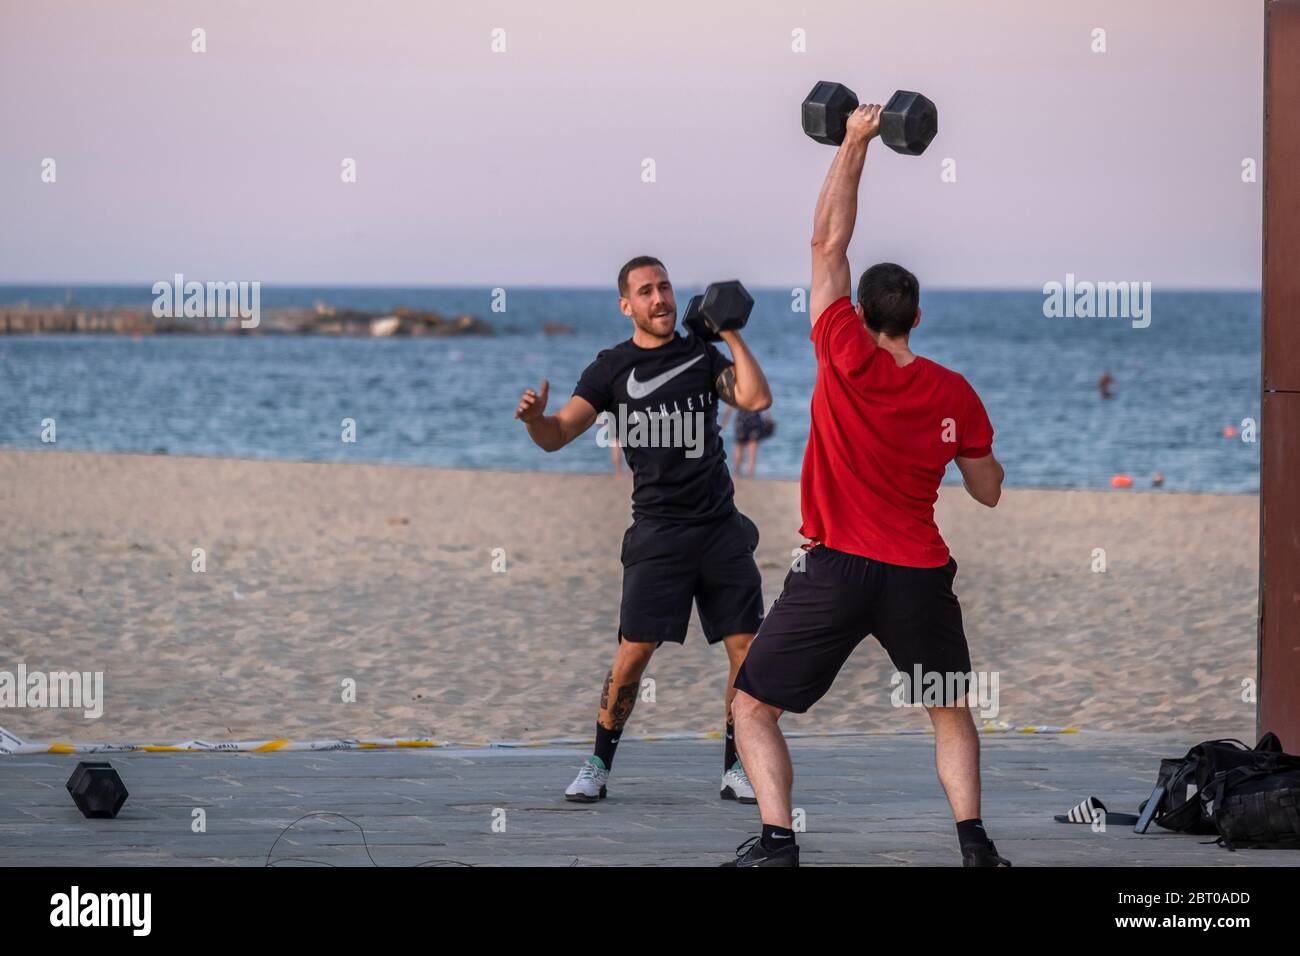
[[[1017,866],[1300,865],[1300,852],[1228,852],[1206,836],[1154,826],[1147,835],[1126,826],[1098,834],[1053,822],[1089,795],[1112,810],[1136,812],[1160,758],[1195,743],[1147,734],[983,735],[985,826]],[[932,736],[794,739],[790,750],[805,865],[959,864]],[[82,818],[64,788],[78,757],[5,756],[0,865],[264,866],[277,835],[312,812],[363,826],[381,866],[711,866],[758,831],[757,808],[718,799],[716,740],[628,740],[610,797],[566,803],[563,790],[586,753],[110,754],[130,799],[108,821]],[[196,808],[207,814],[207,832],[191,831]],[[369,866],[365,844],[351,823],[311,817],[283,832],[270,858],[280,866]]]

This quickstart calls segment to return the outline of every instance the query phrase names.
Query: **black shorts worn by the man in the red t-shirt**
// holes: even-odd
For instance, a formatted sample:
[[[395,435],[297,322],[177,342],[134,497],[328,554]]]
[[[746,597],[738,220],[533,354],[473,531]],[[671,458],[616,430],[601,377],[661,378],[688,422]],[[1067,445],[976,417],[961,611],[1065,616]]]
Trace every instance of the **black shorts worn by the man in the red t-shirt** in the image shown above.
[[[953,593],[957,562],[902,567],[818,545],[785,575],[785,587],[736,675],[736,689],[802,714],[831,688],[849,654],[868,633],[884,646],[906,684],[907,702],[965,697],[971,669],[962,609]],[[915,676],[920,669],[920,683]],[[941,698],[924,695],[927,675],[945,679]],[[957,675],[961,675],[959,678]],[[933,685],[932,685],[933,687]]]

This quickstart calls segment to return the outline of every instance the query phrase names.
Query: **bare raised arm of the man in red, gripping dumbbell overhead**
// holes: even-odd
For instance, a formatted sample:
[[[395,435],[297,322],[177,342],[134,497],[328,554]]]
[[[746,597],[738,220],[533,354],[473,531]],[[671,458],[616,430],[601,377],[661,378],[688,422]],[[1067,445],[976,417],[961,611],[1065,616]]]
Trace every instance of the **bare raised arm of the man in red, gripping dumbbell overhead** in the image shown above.
[[[858,183],[867,159],[867,143],[880,133],[880,107],[858,107],[846,124],[844,142],[835,151],[812,213],[812,289],[810,319],[815,325],[827,306],[849,295],[849,241],[858,219]]]

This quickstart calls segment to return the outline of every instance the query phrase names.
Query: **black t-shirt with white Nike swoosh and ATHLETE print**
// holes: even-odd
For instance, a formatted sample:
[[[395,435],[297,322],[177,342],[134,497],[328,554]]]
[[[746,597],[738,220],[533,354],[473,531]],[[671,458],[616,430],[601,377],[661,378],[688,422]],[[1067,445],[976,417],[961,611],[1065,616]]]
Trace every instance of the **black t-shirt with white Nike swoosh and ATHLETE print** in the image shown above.
[[[603,434],[632,470],[634,518],[694,524],[736,510],[715,385],[731,365],[711,342],[675,334],[658,349],[620,342],[582,372],[573,394],[607,414]]]

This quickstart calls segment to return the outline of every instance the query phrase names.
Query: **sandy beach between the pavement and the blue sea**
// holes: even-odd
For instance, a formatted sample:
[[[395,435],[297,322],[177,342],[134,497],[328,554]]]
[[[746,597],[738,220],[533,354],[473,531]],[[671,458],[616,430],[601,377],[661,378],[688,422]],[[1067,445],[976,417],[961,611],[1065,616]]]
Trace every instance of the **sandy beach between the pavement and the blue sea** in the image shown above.
[[[0,670],[103,671],[105,696],[99,719],[13,709],[0,727],[29,741],[589,735],[629,490],[601,475],[0,451]],[[800,544],[798,485],[741,481],[737,502],[762,532],[770,605]],[[1256,497],[1013,489],[985,510],[944,486],[937,511],[998,721],[1251,737]],[[786,728],[928,727],[890,705],[890,671],[868,639]],[[697,623],[647,676],[629,735],[719,728],[724,656]]]

